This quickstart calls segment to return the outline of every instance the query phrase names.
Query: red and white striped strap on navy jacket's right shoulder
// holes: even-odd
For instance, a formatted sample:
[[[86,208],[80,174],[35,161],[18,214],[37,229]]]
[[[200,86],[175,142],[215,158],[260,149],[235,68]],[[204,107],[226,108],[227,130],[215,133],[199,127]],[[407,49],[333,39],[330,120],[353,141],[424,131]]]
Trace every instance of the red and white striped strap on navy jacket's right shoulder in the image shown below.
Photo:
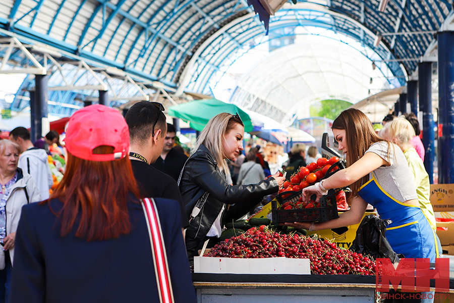
[[[153,255],[154,272],[158,286],[160,303],[173,303],[172,281],[168,272],[167,256],[165,254],[164,240],[161,225],[153,198],[144,198],[142,207],[150,236],[151,251]]]

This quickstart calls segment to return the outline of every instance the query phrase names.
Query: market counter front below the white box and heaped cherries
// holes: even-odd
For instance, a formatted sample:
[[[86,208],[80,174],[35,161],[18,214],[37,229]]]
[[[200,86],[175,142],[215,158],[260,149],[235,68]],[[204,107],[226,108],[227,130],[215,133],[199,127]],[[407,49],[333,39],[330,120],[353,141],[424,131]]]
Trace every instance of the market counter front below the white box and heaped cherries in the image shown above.
[[[198,303],[373,303],[375,298],[375,276],[198,273],[193,281]],[[450,289],[454,293],[454,279]]]

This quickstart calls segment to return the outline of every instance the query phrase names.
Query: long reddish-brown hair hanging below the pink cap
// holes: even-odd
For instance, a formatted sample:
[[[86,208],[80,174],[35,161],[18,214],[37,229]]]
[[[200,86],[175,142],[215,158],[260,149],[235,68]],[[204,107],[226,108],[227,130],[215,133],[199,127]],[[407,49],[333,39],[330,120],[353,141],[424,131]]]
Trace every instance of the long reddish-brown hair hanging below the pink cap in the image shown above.
[[[110,154],[111,146],[99,146],[94,154]],[[51,194],[63,207],[60,218],[61,235],[77,225],[76,237],[87,241],[117,238],[131,230],[127,199],[129,194],[140,198],[128,157],[116,161],[88,161],[68,152],[65,175]],[[50,204],[49,204],[50,207]]]

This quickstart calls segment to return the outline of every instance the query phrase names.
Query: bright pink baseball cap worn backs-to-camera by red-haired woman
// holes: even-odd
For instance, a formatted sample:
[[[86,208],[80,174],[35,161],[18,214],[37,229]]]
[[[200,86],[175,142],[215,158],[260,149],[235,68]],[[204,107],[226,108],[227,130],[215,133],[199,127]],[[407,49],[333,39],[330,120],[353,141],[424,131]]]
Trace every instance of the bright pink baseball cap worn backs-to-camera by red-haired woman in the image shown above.
[[[75,112],[66,129],[65,147],[81,159],[112,161],[126,157],[129,151],[129,128],[125,118],[104,105],[90,105]],[[93,154],[93,149],[113,146],[113,154]]]

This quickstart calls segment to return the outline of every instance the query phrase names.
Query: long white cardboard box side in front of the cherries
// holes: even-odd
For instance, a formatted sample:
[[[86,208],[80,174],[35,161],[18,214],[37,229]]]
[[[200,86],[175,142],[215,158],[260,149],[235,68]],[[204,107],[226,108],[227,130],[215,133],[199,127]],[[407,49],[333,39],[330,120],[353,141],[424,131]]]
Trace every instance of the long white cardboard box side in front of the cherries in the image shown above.
[[[309,259],[194,257],[194,273],[310,275]]]

